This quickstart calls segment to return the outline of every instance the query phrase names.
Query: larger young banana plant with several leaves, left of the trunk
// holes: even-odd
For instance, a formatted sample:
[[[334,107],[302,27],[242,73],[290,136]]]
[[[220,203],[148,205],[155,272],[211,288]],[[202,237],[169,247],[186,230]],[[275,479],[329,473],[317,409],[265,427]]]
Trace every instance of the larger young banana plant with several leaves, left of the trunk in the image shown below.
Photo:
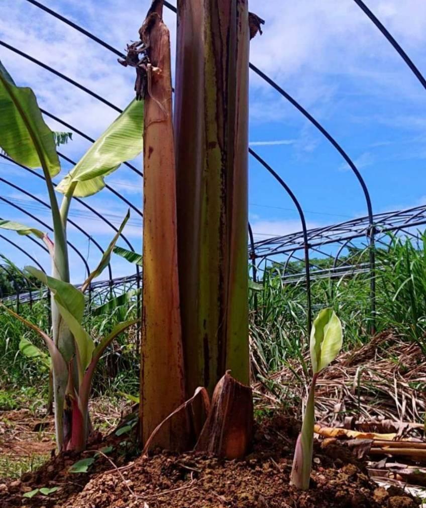
[[[50,353],[57,447],[59,451],[82,449],[87,437],[86,399],[92,370],[102,354],[99,353],[99,348],[103,350],[106,347],[104,344],[108,344],[113,337],[110,334],[94,347],[93,341],[81,327],[84,295],[70,284],[67,218],[73,196],[86,197],[99,192],[105,186],[105,176],[117,170],[124,161],[141,153],[144,104],[141,101],[132,101],[87,150],[71,172],[59,182],[56,190],[63,194],[60,205],[52,180],[60,172],[56,152],[57,138],[44,122],[34,92],[28,87],[18,87],[1,61],[0,104],[0,149],[18,164],[42,169],[52,214],[53,240],[35,228],[10,220],[1,221],[0,227],[14,230],[21,235],[36,235],[48,247],[52,275],[45,276],[35,268],[28,268],[28,272],[46,283],[51,291],[52,337],[34,324],[25,323],[43,337]],[[127,219],[128,215],[119,233]],[[118,235],[111,242],[99,266],[86,280],[83,290],[108,264]],[[69,300],[70,295],[74,295],[74,300]],[[130,324],[127,322],[122,326],[125,328]],[[124,328],[118,325],[113,332],[116,335]],[[111,333],[114,335],[113,332]]]

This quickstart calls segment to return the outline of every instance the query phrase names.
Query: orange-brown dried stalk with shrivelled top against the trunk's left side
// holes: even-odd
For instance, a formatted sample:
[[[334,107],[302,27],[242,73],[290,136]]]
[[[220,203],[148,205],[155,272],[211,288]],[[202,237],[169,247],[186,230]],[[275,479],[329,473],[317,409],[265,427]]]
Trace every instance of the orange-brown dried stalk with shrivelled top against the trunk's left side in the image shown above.
[[[155,6],[154,6],[155,4]],[[170,36],[155,2],[144,23],[148,69],[144,118],[143,323],[140,421],[146,442],[157,425],[185,401],[176,237],[175,151],[172,125]],[[148,20],[148,18],[147,18]],[[187,446],[187,417],[167,420],[152,444]]]

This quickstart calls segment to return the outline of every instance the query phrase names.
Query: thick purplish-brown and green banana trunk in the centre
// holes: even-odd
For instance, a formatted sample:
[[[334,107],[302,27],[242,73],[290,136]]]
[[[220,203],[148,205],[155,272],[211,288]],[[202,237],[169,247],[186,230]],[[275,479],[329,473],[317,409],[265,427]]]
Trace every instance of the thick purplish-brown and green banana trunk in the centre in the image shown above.
[[[179,0],[175,146],[186,390],[249,384],[247,0]],[[147,145],[148,146],[148,145]]]

